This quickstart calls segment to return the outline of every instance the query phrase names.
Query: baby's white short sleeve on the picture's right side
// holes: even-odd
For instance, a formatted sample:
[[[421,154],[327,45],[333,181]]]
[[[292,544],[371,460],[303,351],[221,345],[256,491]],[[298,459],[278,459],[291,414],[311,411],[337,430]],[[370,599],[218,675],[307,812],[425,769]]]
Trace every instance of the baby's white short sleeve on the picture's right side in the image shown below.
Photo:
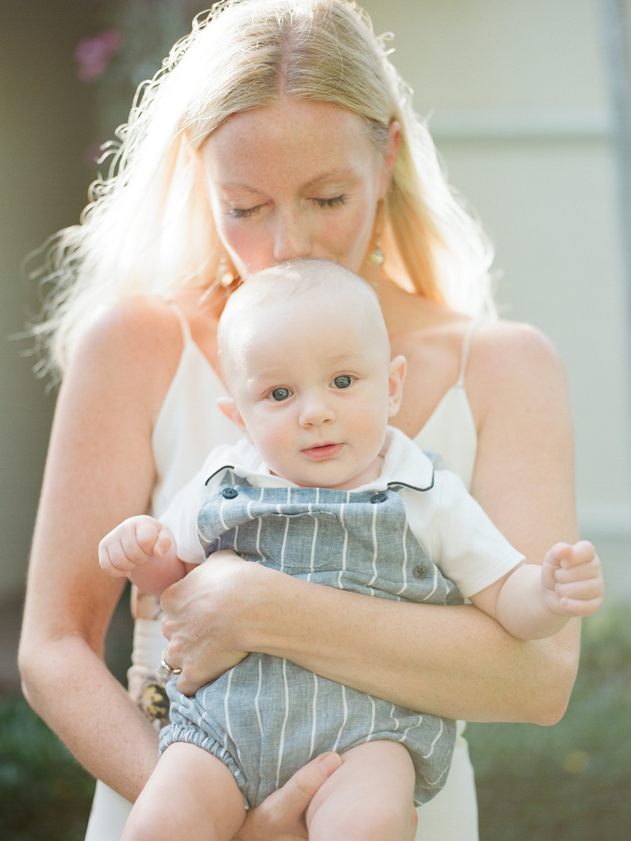
[[[439,492],[432,527],[432,561],[469,598],[514,569],[517,552],[454,473],[436,473]]]

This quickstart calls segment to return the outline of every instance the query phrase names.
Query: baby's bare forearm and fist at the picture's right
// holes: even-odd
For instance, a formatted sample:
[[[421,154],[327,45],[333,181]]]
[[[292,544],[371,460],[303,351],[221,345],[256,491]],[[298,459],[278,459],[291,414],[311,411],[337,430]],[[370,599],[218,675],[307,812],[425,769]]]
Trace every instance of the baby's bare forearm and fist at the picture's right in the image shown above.
[[[557,543],[542,567],[524,563],[469,599],[513,637],[543,639],[571,616],[596,613],[603,594],[601,562],[591,543],[581,540]]]

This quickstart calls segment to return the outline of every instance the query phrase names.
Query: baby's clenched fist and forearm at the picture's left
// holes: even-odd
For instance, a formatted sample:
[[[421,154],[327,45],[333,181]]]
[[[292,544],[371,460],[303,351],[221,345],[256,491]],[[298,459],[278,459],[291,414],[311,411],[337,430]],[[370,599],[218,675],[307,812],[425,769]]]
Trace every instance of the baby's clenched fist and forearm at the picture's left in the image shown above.
[[[146,515],[130,517],[103,537],[98,563],[107,574],[125,575],[143,592],[158,596],[187,573],[167,526]]]

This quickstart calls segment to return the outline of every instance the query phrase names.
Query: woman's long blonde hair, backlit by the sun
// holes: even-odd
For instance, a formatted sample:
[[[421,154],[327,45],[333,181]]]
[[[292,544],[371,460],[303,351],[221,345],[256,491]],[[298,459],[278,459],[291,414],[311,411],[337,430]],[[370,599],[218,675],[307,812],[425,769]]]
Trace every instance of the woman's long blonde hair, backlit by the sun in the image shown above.
[[[384,270],[470,315],[492,310],[490,243],[448,188],[411,91],[363,10],[347,0],[230,0],[199,15],[141,85],[109,176],[93,184],[81,225],[52,241],[40,270],[52,290],[35,328],[44,368],[63,370],[114,300],[213,282],[224,251],[196,153],[231,114],[282,96],[353,111],[380,148],[400,122],[380,221]]]

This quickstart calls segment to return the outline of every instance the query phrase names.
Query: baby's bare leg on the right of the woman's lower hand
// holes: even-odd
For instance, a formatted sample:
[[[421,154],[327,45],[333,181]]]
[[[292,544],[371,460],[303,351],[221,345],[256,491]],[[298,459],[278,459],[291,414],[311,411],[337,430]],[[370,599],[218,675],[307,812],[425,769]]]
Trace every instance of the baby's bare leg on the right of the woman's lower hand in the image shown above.
[[[310,841],[412,841],[415,773],[406,748],[382,739],[342,760],[307,809]]]

